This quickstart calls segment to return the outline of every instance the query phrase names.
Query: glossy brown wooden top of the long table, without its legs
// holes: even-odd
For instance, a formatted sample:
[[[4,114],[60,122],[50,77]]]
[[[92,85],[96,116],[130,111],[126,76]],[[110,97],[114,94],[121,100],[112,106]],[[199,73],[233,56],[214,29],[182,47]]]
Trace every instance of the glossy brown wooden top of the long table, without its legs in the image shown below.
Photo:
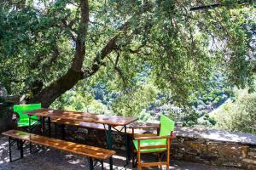
[[[135,117],[95,115],[80,111],[62,111],[44,108],[34,111],[27,111],[26,114],[31,116],[44,116],[79,122],[95,122],[112,126],[125,126],[131,122],[137,121],[137,118]]]

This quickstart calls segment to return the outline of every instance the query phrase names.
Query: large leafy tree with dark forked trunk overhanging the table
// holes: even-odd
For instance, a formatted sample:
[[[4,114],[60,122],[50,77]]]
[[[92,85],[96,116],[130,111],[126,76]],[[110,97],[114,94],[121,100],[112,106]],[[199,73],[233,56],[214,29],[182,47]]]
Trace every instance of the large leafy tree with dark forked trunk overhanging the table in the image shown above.
[[[28,103],[49,107],[79,81],[95,77],[129,93],[145,70],[158,87],[171,89],[178,104],[207,87],[214,69],[226,71],[231,84],[253,84],[250,1],[224,0],[218,8],[189,0],[15,2],[1,4],[0,77]],[[207,8],[189,10],[196,6]]]

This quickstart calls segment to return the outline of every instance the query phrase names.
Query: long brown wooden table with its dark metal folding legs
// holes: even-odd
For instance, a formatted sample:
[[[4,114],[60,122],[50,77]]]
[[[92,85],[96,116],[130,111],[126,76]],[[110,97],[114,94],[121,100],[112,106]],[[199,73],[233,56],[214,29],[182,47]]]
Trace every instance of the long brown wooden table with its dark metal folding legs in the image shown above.
[[[122,126],[125,129],[125,150],[126,150],[126,163],[131,159],[130,151],[129,151],[129,141],[128,134],[126,132],[126,126],[131,122],[136,122],[137,118],[135,117],[125,117],[125,116],[106,116],[106,115],[95,115],[87,112],[80,111],[62,111],[62,110],[53,110],[53,109],[39,109],[34,111],[27,111],[27,115],[29,116],[29,120],[31,120],[31,116],[39,116],[41,118],[48,117],[49,120],[49,130],[50,130],[50,119],[57,118],[67,121],[78,121],[78,122],[94,122],[100,123],[104,126],[108,126],[108,149],[112,150],[113,148],[113,138],[112,138],[112,127]],[[31,121],[29,121],[31,122]],[[50,131],[49,131],[50,135]],[[110,158],[110,164],[113,164],[112,157]],[[113,167],[111,166],[112,170]]]

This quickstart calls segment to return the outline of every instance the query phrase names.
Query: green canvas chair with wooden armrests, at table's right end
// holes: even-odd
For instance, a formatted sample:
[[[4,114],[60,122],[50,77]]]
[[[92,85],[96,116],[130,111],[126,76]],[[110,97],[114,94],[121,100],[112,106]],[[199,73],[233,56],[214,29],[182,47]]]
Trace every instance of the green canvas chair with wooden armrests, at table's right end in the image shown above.
[[[160,133],[159,134],[134,134],[134,150],[133,153],[137,152],[137,165],[138,169],[141,170],[143,167],[156,167],[156,166],[166,166],[169,169],[169,158],[170,158],[170,144],[172,139],[175,138],[173,135],[174,122],[168,117],[160,116]],[[142,127],[132,127],[132,128],[142,128]],[[147,127],[143,127],[144,129]],[[148,127],[148,128],[152,128]],[[159,127],[158,127],[159,128]],[[132,129],[134,132],[134,129]],[[158,161],[156,162],[141,162],[141,154],[157,153]],[[161,154],[166,153],[166,161],[161,161]],[[134,166],[135,159],[132,158],[132,164]]]

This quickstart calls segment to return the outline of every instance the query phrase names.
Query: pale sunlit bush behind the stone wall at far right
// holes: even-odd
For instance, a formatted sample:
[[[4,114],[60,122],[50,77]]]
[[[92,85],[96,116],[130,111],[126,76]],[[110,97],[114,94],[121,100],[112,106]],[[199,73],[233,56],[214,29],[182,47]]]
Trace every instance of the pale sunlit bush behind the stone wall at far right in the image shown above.
[[[256,133],[256,93],[248,89],[236,90],[234,100],[229,100],[214,116],[217,127],[234,132]]]

